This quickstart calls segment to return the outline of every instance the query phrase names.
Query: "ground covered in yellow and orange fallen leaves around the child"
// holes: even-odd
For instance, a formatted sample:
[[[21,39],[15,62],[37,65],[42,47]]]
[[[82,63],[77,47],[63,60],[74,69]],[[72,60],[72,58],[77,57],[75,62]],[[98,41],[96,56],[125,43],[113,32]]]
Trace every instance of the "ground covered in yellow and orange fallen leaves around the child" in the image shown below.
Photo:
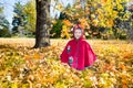
[[[133,88],[132,42],[89,40],[98,61],[83,72],[61,64],[66,42],[33,50],[33,38],[0,38],[0,88]]]

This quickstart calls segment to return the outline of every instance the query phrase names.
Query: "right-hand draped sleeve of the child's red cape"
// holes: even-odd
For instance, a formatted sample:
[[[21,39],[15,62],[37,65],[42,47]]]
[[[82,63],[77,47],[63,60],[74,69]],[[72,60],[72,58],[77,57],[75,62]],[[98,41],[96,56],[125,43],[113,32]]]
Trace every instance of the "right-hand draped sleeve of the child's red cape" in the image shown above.
[[[86,43],[86,45],[85,45],[85,62],[84,62],[85,67],[92,66],[95,59],[96,59],[96,56],[95,56],[93,50],[91,48],[90,44]]]

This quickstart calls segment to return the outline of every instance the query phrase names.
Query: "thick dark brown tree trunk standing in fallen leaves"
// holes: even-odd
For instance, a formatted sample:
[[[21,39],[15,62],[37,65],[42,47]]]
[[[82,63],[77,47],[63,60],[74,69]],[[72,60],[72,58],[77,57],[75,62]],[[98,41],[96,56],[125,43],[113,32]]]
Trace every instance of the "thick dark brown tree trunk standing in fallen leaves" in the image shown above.
[[[35,0],[37,25],[34,48],[50,45],[50,0]]]

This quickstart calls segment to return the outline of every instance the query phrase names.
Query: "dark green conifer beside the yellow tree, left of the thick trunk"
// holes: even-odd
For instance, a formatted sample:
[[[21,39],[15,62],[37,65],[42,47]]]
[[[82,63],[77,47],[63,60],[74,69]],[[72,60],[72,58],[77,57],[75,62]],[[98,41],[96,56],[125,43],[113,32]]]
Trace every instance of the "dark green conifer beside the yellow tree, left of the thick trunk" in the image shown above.
[[[24,35],[28,31],[24,28],[27,24],[27,15],[23,13],[23,6],[20,2],[14,4],[14,16],[12,20],[12,34]]]

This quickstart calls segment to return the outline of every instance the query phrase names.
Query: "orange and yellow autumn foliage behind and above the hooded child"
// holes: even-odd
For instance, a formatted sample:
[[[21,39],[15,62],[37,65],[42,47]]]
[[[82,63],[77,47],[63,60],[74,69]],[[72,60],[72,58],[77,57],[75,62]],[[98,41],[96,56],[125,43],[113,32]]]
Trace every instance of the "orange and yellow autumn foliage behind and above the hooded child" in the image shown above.
[[[127,30],[132,26],[127,2],[127,0],[76,0],[72,7],[70,4],[64,9],[62,4],[58,7],[62,12],[59,19],[69,20],[72,24],[80,22],[85,28],[86,37],[126,38]],[[69,32],[71,29],[66,30]],[[63,37],[66,35],[63,33]]]

